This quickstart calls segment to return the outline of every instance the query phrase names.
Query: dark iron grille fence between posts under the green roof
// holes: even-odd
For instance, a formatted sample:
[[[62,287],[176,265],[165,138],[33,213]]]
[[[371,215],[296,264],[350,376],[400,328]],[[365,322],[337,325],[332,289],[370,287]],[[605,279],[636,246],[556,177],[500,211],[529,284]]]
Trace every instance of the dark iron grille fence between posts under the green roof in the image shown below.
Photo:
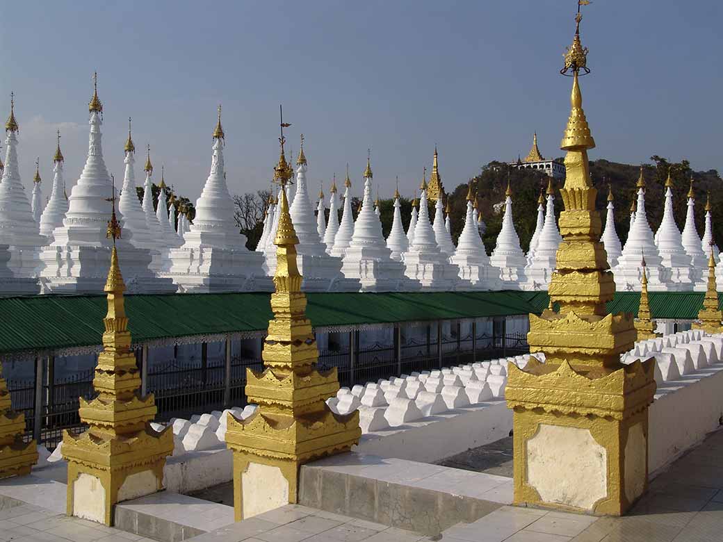
[[[320,351],[320,370],[336,367],[342,386],[375,382],[413,371],[432,371],[442,366],[453,366],[483,361],[485,359],[515,356],[529,351],[526,335],[477,335],[463,337],[453,332],[442,332],[438,343],[435,326],[427,328],[426,337],[409,337],[401,340],[395,333],[393,342],[383,341],[359,347],[359,332],[349,334],[350,345],[338,346]],[[401,342],[400,342],[401,341]],[[93,369],[56,378],[51,364],[44,364],[40,378],[42,386],[35,386],[35,379],[8,379],[7,386],[15,410],[25,414],[26,439],[37,436],[40,444],[54,449],[62,439],[65,429],[80,432],[78,407],[79,397],[90,400],[93,395]],[[226,359],[183,362],[171,358],[148,368],[146,375],[147,392],[155,394],[159,421],[170,418],[188,418],[193,414],[225,408],[228,393],[230,405],[244,406],[247,397],[246,369],[261,370],[263,363],[257,356],[244,351],[241,356],[231,358],[231,378],[226,379]],[[40,391],[41,397],[36,397]],[[40,415],[35,407],[40,405]],[[228,405],[228,406],[230,406]],[[36,422],[40,428],[36,428]]]

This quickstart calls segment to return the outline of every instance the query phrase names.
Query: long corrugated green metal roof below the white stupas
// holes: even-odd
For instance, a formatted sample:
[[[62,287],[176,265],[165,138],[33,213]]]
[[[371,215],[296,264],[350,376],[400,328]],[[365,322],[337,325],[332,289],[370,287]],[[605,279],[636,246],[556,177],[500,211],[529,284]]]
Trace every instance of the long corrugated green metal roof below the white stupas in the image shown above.
[[[129,328],[136,343],[166,337],[265,330],[268,293],[127,296]],[[309,293],[314,327],[354,326],[437,319],[502,317],[547,309],[547,292]],[[702,292],[651,292],[655,318],[695,319]],[[618,292],[612,312],[637,314],[640,293]],[[0,354],[100,344],[105,296],[0,298]]]

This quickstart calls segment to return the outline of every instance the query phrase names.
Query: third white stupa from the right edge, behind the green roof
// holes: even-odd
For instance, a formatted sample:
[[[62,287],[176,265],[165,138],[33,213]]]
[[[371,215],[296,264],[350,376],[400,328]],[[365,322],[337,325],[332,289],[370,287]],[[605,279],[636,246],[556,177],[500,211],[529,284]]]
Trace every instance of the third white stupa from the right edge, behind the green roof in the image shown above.
[[[669,278],[672,282],[670,287],[690,290],[690,288],[693,288],[690,257],[683,248],[683,239],[673,216],[672,186],[672,179],[670,178],[670,172],[668,172],[668,178],[665,181],[663,220],[655,234],[655,244],[658,246],[662,266],[669,272]]]

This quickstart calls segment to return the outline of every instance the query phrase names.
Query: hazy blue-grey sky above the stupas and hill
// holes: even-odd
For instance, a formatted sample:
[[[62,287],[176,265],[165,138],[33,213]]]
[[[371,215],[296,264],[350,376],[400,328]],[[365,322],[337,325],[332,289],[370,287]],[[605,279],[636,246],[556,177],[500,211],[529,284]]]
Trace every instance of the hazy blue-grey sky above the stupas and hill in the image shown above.
[[[723,7],[718,1],[596,0],[583,8],[592,74],[581,79],[597,148],[627,163],[652,154],[721,167]],[[571,80],[558,73],[574,32],[570,0],[8,1],[2,2],[0,113],[16,93],[20,173],[40,156],[52,179],[55,132],[66,181],[87,154],[91,75],[106,164],[123,175],[132,116],[142,182],[145,145],[160,177],[200,194],[223,104],[232,193],[268,186],[278,159],[278,104],[306,137],[315,194],[348,162],[354,192],[372,150],[382,197],[409,195],[437,143],[445,186],[492,159],[528,152],[533,130],[560,156]],[[5,98],[7,97],[7,98]],[[4,150],[3,150],[4,152]],[[155,178],[158,181],[158,178]]]

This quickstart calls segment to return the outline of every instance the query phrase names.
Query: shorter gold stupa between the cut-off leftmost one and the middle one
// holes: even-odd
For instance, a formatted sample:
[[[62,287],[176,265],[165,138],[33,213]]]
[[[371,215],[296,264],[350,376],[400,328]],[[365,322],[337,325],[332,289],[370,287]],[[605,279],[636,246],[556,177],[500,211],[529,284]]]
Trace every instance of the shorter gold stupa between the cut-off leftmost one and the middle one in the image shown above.
[[[105,525],[113,524],[116,502],[163,489],[163,466],[174,450],[171,427],[157,432],[150,426],[157,411],[153,394],[140,395],[140,371],[130,348],[125,284],[115,246],[120,233],[114,202],[108,223],[114,244],[103,288],[108,313],[93,379],[98,395],[90,401],[80,397],[80,420],[89,428],[80,435],[64,431],[62,448],[68,462],[68,515]]]

